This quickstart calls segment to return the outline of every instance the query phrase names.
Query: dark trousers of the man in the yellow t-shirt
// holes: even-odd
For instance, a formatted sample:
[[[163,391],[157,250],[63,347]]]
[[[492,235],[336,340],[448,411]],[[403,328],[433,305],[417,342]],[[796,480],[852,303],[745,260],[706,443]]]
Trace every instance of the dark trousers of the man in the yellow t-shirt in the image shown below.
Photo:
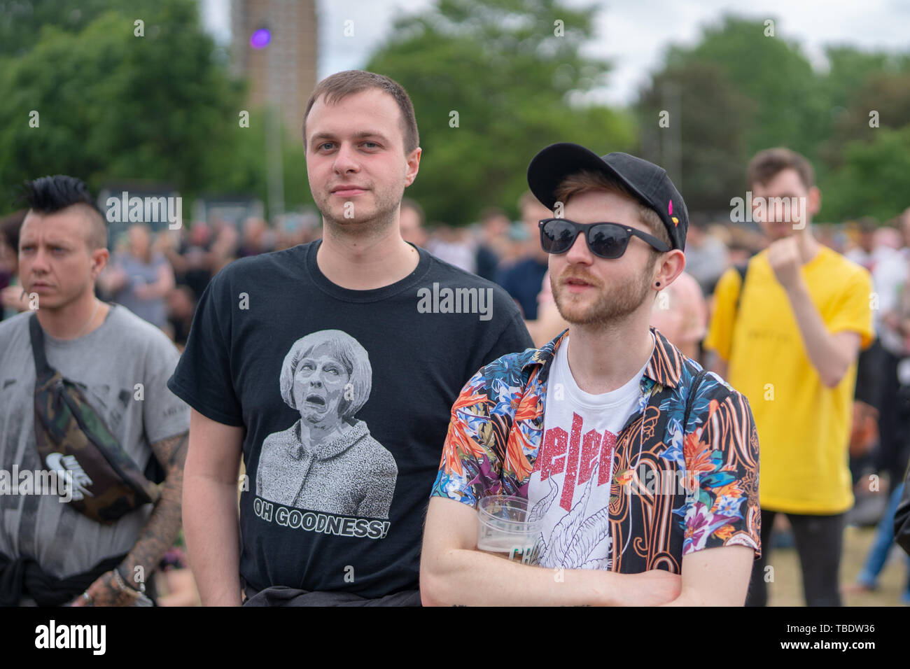
[[[746,606],[765,606],[768,603],[764,568],[771,552],[771,529],[776,515],[777,512],[762,509],[762,557],[753,562]],[[846,513],[827,516],[787,513],[786,516],[793,527],[796,552],[799,553],[806,605],[840,606],[837,574],[841,565]]]

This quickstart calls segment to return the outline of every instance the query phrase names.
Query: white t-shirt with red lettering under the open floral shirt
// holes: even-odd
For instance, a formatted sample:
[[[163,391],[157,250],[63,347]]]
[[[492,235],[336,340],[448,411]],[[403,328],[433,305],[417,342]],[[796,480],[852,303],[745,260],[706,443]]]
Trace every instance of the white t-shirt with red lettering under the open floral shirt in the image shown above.
[[[542,516],[541,567],[610,569],[608,522],[616,436],[638,408],[647,362],[621,388],[592,395],[569,369],[569,338],[556,351],[547,388],[543,441],[528,498]]]

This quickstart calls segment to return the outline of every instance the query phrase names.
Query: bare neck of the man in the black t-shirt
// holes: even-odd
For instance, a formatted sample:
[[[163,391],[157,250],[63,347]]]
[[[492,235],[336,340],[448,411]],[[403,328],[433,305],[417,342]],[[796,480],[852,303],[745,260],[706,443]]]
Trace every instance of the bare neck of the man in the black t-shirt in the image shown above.
[[[374,237],[339,234],[329,226],[316,263],[326,279],[349,290],[389,286],[407,277],[420,262],[420,253],[401,238],[398,226]]]

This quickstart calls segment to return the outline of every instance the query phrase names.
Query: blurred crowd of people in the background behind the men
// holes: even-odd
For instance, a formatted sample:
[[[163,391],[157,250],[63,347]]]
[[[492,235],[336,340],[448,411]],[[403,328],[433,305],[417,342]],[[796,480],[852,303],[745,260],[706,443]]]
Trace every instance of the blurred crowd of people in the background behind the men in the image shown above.
[[[566,327],[552,299],[548,254],[541,249],[538,221],[551,212],[530,192],[518,201],[520,219],[489,207],[470,225],[429,224],[412,199],[401,203],[402,237],[460,269],[499,284],[521,309],[537,346]],[[0,306],[2,318],[29,309],[17,279],[18,230],[25,210],[0,219]],[[910,208],[880,224],[861,218],[814,226],[825,247],[867,269],[874,281],[877,340],[859,361],[850,455],[857,504],[854,522],[878,522],[873,548],[856,583],[869,591],[884,568],[894,533],[890,519],[902,493],[910,443]],[[198,299],[217,272],[237,258],[290,248],[320,238],[318,212],[285,215],[269,223],[250,217],[232,222],[196,220],[176,230],[135,223],[109,239],[111,262],[97,281],[101,299],[125,306],[162,329],[182,350]],[[654,302],[652,325],[693,360],[705,363],[703,340],[712,313],[713,291],[723,273],[743,266],[766,248],[759,228],[693,218],[686,240],[684,273]],[[881,504],[868,491],[870,477],[888,490]],[[890,487],[889,487],[890,486]],[[877,490],[877,489],[876,489]],[[788,545],[787,522],[778,518],[775,545]],[[792,539],[790,540],[792,541]],[[792,545],[792,543],[790,544]],[[910,560],[903,603],[910,603]]]

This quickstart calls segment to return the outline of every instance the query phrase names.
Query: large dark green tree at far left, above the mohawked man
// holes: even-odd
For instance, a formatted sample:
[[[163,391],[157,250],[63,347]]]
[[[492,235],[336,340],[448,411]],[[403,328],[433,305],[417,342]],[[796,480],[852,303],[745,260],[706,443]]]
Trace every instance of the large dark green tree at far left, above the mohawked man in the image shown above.
[[[134,36],[132,13],[80,32],[45,26],[0,68],[0,183],[47,173],[147,179],[192,194],[227,178],[242,86],[213,62],[191,0],[165,0]],[[37,112],[38,126],[34,126]],[[236,179],[235,179],[236,180]],[[0,204],[9,208],[9,188]]]

